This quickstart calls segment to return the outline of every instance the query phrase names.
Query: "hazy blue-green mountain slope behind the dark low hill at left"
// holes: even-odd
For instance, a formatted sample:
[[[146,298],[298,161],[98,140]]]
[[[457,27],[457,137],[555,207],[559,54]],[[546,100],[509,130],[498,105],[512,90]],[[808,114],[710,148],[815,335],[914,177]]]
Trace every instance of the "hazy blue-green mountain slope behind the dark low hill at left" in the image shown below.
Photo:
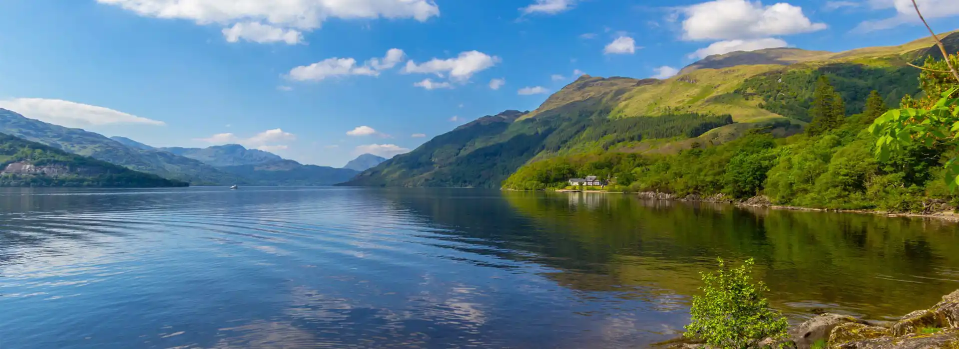
[[[197,160],[165,151],[131,147],[97,133],[27,119],[2,108],[0,133],[193,185],[243,183],[236,175]]]

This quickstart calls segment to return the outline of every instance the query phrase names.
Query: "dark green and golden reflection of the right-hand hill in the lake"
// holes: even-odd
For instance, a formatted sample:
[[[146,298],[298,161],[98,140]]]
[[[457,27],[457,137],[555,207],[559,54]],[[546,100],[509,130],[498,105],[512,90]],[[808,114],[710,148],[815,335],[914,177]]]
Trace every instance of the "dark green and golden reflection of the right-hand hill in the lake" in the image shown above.
[[[596,193],[386,191],[386,198],[495,247],[503,258],[556,268],[582,291],[650,301],[689,295],[714,258],[757,258],[779,304],[901,316],[959,288],[953,224],[876,215],[643,201]],[[502,198],[500,198],[502,197]]]

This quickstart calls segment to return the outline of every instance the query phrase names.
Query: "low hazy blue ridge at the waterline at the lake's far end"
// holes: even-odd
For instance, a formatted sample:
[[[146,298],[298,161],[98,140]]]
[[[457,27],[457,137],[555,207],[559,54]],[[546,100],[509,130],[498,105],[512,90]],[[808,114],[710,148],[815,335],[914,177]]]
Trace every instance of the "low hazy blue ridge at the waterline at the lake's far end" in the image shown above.
[[[349,168],[300,164],[292,160],[218,168],[245,178],[250,185],[336,185],[360,173]]]

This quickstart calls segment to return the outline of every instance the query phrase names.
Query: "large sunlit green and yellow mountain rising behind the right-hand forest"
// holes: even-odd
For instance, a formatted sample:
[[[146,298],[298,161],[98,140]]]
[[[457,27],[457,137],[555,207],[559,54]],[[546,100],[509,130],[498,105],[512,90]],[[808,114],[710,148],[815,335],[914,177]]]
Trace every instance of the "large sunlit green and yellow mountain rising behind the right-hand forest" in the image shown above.
[[[959,42],[959,33],[944,35]],[[889,105],[920,93],[931,38],[842,53],[767,49],[713,55],[665,80],[580,76],[528,113],[507,111],[439,135],[343,185],[500,187],[520,166],[557,156],[671,154],[737,140],[761,128],[777,137],[809,121],[813,90],[828,76],[861,113],[876,90]]]

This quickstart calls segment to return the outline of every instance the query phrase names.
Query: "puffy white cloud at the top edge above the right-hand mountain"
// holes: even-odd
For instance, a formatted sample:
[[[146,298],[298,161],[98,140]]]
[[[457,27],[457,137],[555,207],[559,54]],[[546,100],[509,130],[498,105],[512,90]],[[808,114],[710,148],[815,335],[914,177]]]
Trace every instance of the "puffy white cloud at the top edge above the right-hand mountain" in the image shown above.
[[[682,8],[680,13],[686,15],[683,21],[686,40],[749,39],[827,28],[825,23],[809,20],[803,8],[787,3],[763,6],[760,1],[714,0]]]

